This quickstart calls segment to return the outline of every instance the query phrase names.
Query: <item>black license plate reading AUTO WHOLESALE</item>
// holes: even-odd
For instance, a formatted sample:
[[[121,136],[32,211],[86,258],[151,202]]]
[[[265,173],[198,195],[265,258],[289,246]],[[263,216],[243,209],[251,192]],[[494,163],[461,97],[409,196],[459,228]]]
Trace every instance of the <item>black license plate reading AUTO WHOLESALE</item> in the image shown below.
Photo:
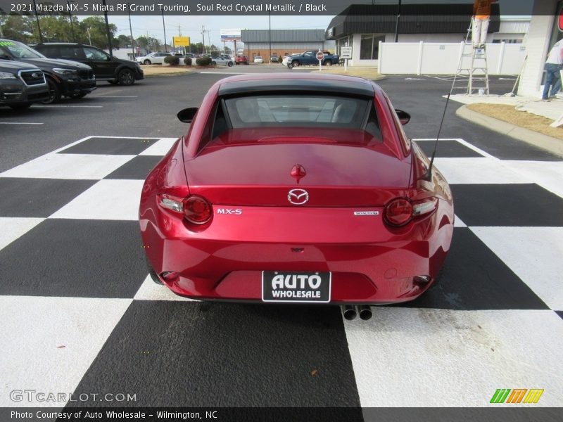
[[[330,302],[331,273],[262,271],[264,302]]]

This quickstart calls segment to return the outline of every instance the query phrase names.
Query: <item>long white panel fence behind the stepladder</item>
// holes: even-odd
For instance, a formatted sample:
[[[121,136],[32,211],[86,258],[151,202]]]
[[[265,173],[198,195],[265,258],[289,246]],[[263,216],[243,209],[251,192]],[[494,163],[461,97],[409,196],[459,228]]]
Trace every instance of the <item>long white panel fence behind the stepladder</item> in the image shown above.
[[[380,42],[379,73],[388,75],[455,75],[462,53],[470,44],[437,42]],[[524,44],[487,44],[489,75],[518,75],[526,57]],[[462,68],[469,68],[471,57],[462,58]],[[476,60],[476,66],[483,63]]]

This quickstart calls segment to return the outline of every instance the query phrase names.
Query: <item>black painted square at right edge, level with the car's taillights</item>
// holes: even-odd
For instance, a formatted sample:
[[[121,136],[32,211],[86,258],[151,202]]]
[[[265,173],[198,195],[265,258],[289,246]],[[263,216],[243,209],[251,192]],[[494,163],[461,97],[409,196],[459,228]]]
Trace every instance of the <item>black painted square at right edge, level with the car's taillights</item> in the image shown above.
[[[536,184],[453,184],[467,226],[561,226],[563,198]]]

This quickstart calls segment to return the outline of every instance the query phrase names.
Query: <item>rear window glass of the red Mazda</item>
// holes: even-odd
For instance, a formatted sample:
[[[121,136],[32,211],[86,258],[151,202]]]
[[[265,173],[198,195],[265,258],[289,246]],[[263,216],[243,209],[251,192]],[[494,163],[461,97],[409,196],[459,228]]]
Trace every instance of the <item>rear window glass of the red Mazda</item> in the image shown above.
[[[363,129],[371,101],[284,94],[227,98],[224,104],[233,129],[260,126]]]

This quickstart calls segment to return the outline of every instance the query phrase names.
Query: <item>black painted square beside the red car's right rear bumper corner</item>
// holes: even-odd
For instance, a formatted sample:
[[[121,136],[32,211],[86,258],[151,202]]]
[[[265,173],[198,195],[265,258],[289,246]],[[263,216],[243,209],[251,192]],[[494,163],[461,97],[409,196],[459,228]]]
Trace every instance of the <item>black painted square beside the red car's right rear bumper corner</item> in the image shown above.
[[[456,227],[435,286],[403,305],[454,310],[549,309],[524,281],[467,227]]]

